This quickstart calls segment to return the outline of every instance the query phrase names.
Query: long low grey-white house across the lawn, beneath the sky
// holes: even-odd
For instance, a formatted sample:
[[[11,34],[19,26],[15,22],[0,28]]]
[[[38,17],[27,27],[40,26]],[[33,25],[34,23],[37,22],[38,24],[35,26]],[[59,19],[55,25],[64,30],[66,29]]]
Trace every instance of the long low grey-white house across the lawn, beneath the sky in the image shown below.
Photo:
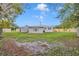
[[[44,32],[52,32],[52,27],[49,26],[27,26],[22,27],[20,32],[28,32],[28,33],[44,33]]]

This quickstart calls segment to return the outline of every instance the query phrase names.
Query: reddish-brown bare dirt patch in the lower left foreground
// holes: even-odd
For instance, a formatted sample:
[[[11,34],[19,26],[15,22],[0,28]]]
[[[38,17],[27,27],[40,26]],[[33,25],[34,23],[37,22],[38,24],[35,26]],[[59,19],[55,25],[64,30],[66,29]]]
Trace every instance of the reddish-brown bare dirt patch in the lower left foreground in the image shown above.
[[[6,40],[3,44],[2,50],[13,55],[31,55],[31,51],[28,48],[27,50],[24,50],[22,46],[19,47],[15,40]]]

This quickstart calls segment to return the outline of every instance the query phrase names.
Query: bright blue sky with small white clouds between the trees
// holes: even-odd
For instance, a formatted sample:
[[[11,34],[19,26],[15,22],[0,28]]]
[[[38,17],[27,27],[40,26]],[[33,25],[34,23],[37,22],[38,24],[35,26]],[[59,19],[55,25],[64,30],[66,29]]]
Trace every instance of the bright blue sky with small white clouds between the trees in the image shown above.
[[[60,24],[56,18],[63,4],[57,3],[26,3],[23,4],[24,12],[16,18],[16,24],[22,26],[55,26]]]

